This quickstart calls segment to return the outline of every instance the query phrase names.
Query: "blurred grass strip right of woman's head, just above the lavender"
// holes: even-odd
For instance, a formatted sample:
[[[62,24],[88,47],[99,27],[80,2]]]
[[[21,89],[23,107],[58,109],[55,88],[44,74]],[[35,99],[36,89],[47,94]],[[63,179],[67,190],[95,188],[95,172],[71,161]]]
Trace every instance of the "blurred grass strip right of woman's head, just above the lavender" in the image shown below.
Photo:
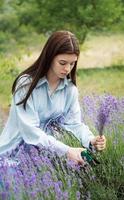
[[[78,69],[77,85],[80,95],[110,93],[124,96],[124,66]]]

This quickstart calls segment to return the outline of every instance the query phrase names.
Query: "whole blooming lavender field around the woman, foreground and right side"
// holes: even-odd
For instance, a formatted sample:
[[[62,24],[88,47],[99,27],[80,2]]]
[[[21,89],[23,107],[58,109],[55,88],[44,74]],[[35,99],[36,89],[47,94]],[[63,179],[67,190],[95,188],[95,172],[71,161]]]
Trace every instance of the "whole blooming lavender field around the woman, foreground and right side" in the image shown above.
[[[84,169],[50,150],[22,145],[20,164],[15,160],[9,166],[0,166],[0,199],[124,199],[124,98],[85,96],[81,109],[82,121],[95,134],[106,135],[106,150],[95,153],[100,164]],[[64,140],[73,146],[78,144],[74,138],[69,141],[65,136]]]

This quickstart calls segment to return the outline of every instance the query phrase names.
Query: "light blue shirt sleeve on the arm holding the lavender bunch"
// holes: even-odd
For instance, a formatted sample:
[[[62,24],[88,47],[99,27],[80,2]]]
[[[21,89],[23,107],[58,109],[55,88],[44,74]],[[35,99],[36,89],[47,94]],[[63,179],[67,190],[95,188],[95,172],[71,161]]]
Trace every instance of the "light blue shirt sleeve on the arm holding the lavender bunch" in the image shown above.
[[[66,115],[66,120],[64,128],[71,131],[74,136],[81,141],[84,147],[89,148],[90,141],[95,137],[93,133],[89,130],[89,127],[81,121],[81,109],[78,100],[78,90],[76,86],[72,88],[72,100],[68,113]]]

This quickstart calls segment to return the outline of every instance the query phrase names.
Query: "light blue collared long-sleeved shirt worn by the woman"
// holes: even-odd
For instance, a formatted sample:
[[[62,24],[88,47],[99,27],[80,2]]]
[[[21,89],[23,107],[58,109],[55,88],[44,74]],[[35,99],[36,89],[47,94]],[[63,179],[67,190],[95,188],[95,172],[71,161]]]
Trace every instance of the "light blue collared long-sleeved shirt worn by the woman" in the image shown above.
[[[57,89],[52,93],[45,77],[39,80],[30,95],[26,110],[23,105],[16,105],[24,98],[30,83],[29,76],[22,76],[13,95],[7,123],[0,136],[0,154],[10,152],[24,140],[27,144],[42,145],[65,154],[69,146],[50,135],[46,125],[51,119],[63,115],[62,125],[71,131],[85,147],[94,135],[88,126],[81,122],[81,111],[77,87],[67,78],[61,79]],[[18,89],[19,85],[21,89]]]

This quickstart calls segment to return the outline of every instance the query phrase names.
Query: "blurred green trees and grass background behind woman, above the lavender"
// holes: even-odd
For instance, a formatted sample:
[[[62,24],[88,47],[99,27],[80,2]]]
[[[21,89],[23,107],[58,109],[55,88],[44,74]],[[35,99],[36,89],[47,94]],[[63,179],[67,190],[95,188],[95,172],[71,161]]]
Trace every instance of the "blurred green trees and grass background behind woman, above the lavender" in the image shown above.
[[[38,57],[56,30],[80,41],[77,85],[91,93],[124,95],[123,0],[1,0],[0,108],[8,111],[12,82]]]

